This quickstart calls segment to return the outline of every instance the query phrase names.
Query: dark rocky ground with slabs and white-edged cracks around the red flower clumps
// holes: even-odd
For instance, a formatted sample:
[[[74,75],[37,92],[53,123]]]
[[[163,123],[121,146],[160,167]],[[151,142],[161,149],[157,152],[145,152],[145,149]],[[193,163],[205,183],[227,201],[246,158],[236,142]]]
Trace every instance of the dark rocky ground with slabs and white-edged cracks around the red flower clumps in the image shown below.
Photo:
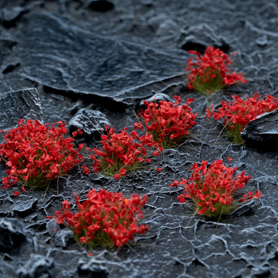
[[[19,118],[62,120],[69,127],[80,109],[88,109],[103,113],[116,130],[131,131],[133,110],[138,113],[140,102],[155,93],[171,101],[180,95],[183,103],[194,97],[190,106],[198,113],[194,136],[165,150],[137,179],[85,176],[77,166],[69,180],[59,179],[59,195],[57,182],[46,194],[13,196],[17,186],[1,189],[1,278],[278,276],[278,154],[233,145],[224,133],[216,140],[223,127],[204,117],[212,101],[219,107],[230,95],[278,96],[275,1],[3,0],[0,10],[1,129],[15,127]],[[209,44],[237,52],[232,69],[249,83],[209,99],[189,91],[187,51]],[[245,192],[263,195],[219,223],[194,215],[190,202],[177,201],[182,189],[169,187],[187,179],[194,162],[218,158],[253,177]],[[1,162],[1,177],[6,169]],[[64,199],[74,205],[74,193],[84,200],[92,188],[148,195],[142,221],[150,230],[135,237],[132,249],[85,250],[65,227],[45,218]]]

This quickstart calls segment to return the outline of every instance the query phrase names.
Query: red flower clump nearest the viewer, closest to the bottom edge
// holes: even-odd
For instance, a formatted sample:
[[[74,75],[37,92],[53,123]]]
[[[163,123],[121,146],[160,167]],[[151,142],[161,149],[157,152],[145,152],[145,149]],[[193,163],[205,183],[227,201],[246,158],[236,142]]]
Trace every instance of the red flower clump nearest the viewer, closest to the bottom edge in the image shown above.
[[[78,241],[95,246],[118,246],[133,240],[134,234],[144,234],[148,225],[137,222],[143,217],[142,208],[147,196],[132,194],[129,200],[122,193],[90,190],[88,199],[80,203],[75,195],[77,212],[70,212],[70,204],[63,201],[60,211],[56,211],[56,221],[70,228]]]

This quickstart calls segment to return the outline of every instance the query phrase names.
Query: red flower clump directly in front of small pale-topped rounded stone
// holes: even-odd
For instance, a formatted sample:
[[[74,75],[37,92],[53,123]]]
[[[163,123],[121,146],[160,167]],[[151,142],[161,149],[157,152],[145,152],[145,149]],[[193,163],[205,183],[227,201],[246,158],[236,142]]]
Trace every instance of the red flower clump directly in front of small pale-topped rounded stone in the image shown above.
[[[188,130],[197,124],[194,121],[197,114],[194,115],[189,107],[189,103],[194,98],[187,99],[186,104],[182,105],[179,105],[181,102],[179,96],[175,95],[174,98],[177,100],[175,104],[163,100],[159,104],[149,102],[147,108],[141,109],[138,114],[144,119],[146,129],[153,136],[154,141],[163,149],[180,145],[189,134]]]

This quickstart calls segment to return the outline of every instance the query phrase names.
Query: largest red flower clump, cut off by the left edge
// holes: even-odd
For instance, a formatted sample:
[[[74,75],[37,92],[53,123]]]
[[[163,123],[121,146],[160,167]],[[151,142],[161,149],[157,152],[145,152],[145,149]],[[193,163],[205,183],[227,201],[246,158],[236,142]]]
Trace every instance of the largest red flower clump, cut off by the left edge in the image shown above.
[[[66,138],[66,133],[62,121],[50,127],[39,120],[19,120],[18,127],[8,130],[6,142],[0,145],[0,156],[10,167],[8,176],[2,178],[3,188],[16,182],[31,189],[47,188],[52,179],[65,175],[82,161],[82,155],[74,149],[74,139]]]

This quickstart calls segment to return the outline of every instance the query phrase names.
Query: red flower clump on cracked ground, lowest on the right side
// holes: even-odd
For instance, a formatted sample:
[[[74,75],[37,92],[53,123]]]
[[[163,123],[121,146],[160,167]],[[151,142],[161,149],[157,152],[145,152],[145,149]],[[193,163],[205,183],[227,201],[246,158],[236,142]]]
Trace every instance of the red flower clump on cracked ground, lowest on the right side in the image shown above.
[[[183,185],[184,193],[178,196],[178,200],[183,203],[185,198],[191,198],[198,214],[221,217],[222,214],[236,208],[238,201],[246,200],[246,195],[239,200],[234,200],[234,195],[252,177],[245,176],[245,172],[242,172],[233,178],[237,167],[226,167],[221,159],[214,161],[209,167],[207,165],[207,161],[202,161],[200,166],[194,163],[190,169],[193,172],[188,180],[175,180],[170,186]],[[249,192],[248,197],[258,199],[261,192],[256,191],[255,195]]]

